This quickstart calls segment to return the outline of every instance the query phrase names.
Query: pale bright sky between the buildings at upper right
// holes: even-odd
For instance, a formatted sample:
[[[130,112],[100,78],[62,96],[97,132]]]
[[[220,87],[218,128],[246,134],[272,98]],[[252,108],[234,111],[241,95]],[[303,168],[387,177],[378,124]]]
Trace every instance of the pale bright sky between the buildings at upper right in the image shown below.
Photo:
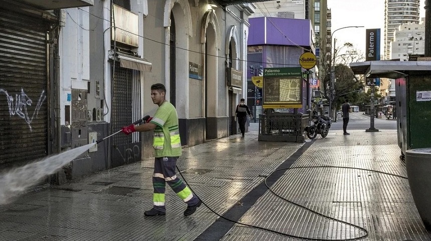
[[[425,0],[420,0],[420,18],[425,17]],[[364,28],[346,28],[333,35],[336,48],[344,43],[352,43],[365,54],[365,30],[380,29],[380,55],[384,53],[384,0],[328,0],[331,9],[331,30],[347,26],[364,26]]]

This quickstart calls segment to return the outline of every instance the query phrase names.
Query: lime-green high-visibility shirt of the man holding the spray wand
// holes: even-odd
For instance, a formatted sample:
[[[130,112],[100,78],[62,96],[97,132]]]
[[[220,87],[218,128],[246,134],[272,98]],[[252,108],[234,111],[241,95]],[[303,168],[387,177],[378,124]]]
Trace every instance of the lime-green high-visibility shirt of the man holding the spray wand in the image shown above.
[[[159,106],[150,123],[157,126],[154,129],[154,157],[180,156],[181,141],[175,107],[165,101]]]

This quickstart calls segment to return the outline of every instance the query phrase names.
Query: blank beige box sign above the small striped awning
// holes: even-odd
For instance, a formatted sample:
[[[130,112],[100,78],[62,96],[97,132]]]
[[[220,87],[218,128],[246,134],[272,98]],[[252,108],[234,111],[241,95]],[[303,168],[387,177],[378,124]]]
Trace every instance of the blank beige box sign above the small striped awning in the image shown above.
[[[138,16],[117,5],[113,6],[116,28],[111,28],[111,39],[138,47]]]

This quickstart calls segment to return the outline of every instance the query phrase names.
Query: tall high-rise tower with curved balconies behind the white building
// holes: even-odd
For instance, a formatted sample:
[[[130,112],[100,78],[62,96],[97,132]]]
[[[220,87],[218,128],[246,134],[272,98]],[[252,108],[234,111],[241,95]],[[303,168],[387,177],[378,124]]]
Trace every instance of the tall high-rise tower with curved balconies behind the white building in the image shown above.
[[[390,59],[393,33],[401,24],[419,24],[419,0],[385,0],[384,59]]]

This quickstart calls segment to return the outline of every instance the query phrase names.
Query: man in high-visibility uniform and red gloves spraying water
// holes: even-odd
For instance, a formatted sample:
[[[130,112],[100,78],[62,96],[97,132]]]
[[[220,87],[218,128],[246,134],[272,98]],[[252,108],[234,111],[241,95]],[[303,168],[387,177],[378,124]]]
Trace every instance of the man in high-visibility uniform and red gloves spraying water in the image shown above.
[[[165,215],[165,185],[167,182],[181,200],[187,203],[184,216],[188,216],[196,211],[201,201],[176,176],[176,161],[181,155],[178,115],[175,107],[165,99],[165,95],[166,88],[163,84],[152,85],[151,99],[154,104],[158,105],[154,117],[139,126],[132,124],[123,127],[122,131],[128,135],[135,131],[154,130],[153,208],[145,211],[144,214],[146,216]]]

